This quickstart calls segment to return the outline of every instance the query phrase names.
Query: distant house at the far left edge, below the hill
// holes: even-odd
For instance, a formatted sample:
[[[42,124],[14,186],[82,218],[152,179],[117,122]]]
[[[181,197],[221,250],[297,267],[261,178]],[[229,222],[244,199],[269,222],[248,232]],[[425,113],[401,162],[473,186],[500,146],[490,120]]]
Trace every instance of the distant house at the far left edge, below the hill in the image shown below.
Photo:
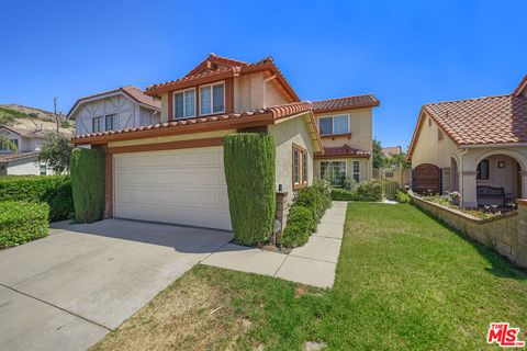
[[[42,131],[0,126],[0,136],[10,139],[18,148],[14,154],[0,143],[0,176],[51,174],[46,165],[37,162],[44,144]]]

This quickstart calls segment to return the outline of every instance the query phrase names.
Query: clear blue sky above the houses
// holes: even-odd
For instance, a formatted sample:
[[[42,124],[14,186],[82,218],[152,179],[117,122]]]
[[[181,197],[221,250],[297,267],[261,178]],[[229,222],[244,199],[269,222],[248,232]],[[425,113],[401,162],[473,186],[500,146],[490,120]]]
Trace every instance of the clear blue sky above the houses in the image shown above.
[[[374,135],[410,144],[426,102],[511,92],[526,1],[2,1],[0,103],[176,79],[209,53],[268,55],[301,99],[374,93]]]

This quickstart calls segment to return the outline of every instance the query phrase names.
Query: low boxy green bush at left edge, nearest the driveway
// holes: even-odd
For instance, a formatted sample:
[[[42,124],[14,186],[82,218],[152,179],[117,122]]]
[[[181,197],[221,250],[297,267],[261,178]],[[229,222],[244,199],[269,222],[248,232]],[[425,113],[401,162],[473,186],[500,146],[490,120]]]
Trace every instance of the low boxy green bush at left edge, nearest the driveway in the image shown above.
[[[0,202],[0,249],[47,236],[48,214],[45,203]]]

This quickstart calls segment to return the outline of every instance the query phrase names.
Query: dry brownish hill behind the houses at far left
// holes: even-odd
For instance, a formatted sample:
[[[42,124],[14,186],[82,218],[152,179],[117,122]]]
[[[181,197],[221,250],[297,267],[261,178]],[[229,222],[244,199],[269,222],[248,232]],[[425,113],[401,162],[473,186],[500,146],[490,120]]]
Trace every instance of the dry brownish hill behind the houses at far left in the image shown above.
[[[14,103],[0,104],[0,125],[42,131],[56,129],[53,112]],[[60,125],[61,132],[69,134],[74,132],[74,122],[69,120]]]

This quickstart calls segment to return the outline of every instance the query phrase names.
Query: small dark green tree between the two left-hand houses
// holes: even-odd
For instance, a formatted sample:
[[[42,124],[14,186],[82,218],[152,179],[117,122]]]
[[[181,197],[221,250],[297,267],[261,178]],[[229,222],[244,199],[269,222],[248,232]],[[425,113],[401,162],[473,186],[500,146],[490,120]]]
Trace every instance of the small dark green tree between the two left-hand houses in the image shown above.
[[[60,132],[48,132],[38,161],[45,162],[56,173],[69,171],[72,146],[69,138]]]

